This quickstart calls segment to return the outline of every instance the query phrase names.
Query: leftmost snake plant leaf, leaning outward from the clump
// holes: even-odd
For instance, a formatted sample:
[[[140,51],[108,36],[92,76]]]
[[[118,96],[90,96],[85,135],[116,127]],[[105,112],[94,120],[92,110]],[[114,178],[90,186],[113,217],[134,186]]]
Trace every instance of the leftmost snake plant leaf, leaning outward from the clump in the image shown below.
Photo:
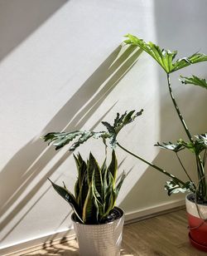
[[[47,178],[48,180],[51,181],[51,179]],[[81,219],[80,215],[79,215],[79,205],[76,202],[75,196],[70,193],[70,191],[68,191],[65,187],[61,187],[59,185],[56,185],[54,182],[51,181],[51,185],[53,186],[53,188],[55,189],[55,191],[60,194],[60,196],[66,200],[66,202],[68,202],[70,204],[70,206],[72,207],[72,209],[74,210],[76,216],[79,218],[79,220],[81,222],[83,222],[83,219]],[[65,185],[64,185],[65,186]]]

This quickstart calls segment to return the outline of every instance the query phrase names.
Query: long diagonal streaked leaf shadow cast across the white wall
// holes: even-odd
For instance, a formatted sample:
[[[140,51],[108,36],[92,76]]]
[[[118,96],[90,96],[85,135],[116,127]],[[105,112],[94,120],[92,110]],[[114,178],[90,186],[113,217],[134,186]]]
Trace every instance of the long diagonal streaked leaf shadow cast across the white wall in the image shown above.
[[[118,84],[118,81],[120,81],[135,62],[137,62],[137,58],[141,53],[142,51],[137,47],[124,47],[124,49],[122,46],[117,47],[98,69],[94,71],[89,79],[84,82],[75,95],[70,98],[70,101],[52,118],[42,133],[53,130],[81,129],[84,123],[94,114],[94,111],[97,110],[108,96],[110,91],[113,90],[114,86]],[[111,106],[103,116],[100,116],[99,120],[91,129],[94,129],[112,108],[113,106]],[[83,116],[84,118],[82,118]],[[17,199],[28,189],[31,182],[41,173],[41,170],[44,169],[54,155],[55,150],[53,148],[46,148],[46,144],[43,143],[42,140],[34,139],[19,150],[17,154],[9,160],[5,168],[3,168],[0,173],[0,180],[2,184],[6,184],[9,180],[9,186],[4,188],[3,191],[2,186],[0,186],[0,195],[2,197],[0,215],[5,214],[6,216],[0,224],[0,229],[5,228],[15,215],[19,213],[36,192],[40,190],[42,185],[46,182],[46,178],[55,172],[70,156],[70,153],[66,152],[62,155],[60,160],[52,166],[51,170],[49,170],[41,180],[38,180],[38,183],[26,194],[19,204],[14,207]],[[13,179],[11,179],[11,177],[13,177]],[[44,194],[42,194],[41,197]],[[38,200],[36,200],[36,203]],[[36,203],[31,205],[30,209],[27,209],[22,219]],[[11,208],[13,208],[12,212],[9,212]],[[17,224],[19,224],[22,219],[19,219]],[[3,239],[15,229],[17,224],[7,232]]]

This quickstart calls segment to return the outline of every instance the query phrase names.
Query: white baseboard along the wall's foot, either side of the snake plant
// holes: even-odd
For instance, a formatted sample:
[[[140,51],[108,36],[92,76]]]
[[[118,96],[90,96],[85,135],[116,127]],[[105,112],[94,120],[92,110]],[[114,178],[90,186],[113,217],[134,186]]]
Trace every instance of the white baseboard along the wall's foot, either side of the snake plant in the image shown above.
[[[160,214],[166,214],[176,209],[182,209],[185,206],[185,200],[176,200],[166,204],[159,204],[146,209],[138,209],[125,214],[124,224],[131,224],[142,219],[149,219]],[[59,233],[49,234],[41,238],[22,241],[19,244],[11,244],[5,248],[0,248],[0,255],[15,256],[15,254],[24,254],[38,249],[50,247],[51,245],[60,244],[65,241],[75,239],[73,229],[68,229]]]

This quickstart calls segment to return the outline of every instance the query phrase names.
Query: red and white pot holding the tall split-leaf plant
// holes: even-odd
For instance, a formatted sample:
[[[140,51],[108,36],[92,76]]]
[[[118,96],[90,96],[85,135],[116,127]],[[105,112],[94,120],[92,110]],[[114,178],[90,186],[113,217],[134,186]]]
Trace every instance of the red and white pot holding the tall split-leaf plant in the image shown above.
[[[189,223],[190,243],[197,249],[207,252],[207,205],[196,204],[190,201],[192,194],[187,194],[185,198],[187,218]],[[201,217],[201,218],[200,218]]]

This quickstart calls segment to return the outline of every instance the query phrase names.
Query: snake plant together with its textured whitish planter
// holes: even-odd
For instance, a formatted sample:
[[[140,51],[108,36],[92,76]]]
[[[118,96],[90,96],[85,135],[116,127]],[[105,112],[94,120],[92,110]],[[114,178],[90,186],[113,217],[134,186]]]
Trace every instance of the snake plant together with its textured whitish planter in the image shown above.
[[[108,166],[105,159],[100,167],[92,153],[87,161],[80,154],[74,158],[78,170],[75,194],[66,188],[65,183],[60,186],[48,180],[74,211],[71,219],[79,254],[117,256],[121,249],[124,214],[122,209],[115,207],[115,202],[125,174],[123,172],[116,185],[118,161],[115,151],[112,151]]]

